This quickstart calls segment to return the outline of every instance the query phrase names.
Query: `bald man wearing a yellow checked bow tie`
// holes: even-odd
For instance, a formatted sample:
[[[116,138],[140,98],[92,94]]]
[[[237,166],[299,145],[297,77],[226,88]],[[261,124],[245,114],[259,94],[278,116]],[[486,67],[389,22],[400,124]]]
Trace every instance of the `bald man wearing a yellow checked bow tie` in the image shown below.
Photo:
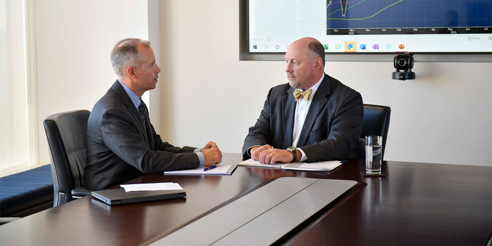
[[[242,153],[261,163],[357,158],[362,97],[324,73],[324,47],[305,37],[285,53],[288,84],[270,89]]]

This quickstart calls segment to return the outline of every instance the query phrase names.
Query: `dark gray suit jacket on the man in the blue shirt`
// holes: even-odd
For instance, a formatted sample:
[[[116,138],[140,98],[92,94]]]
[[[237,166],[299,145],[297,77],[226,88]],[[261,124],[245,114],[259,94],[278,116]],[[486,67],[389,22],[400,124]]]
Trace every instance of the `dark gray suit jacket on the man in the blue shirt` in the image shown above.
[[[107,188],[146,173],[197,168],[200,161],[194,150],[162,142],[150,124],[147,109],[144,126],[116,80],[89,116],[84,186]]]

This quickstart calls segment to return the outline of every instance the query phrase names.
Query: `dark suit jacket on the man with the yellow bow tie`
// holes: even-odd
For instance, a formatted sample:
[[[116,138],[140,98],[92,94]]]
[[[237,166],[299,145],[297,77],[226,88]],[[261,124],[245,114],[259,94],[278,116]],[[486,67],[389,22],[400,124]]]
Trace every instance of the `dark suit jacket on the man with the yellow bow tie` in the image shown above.
[[[294,88],[283,84],[270,89],[260,117],[244,139],[248,148],[269,144],[274,148],[292,146],[296,101]],[[357,91],[324,74],[302,126],[297,147],[308,162],[357,158],[355,150],[362,130],[364,108]]]

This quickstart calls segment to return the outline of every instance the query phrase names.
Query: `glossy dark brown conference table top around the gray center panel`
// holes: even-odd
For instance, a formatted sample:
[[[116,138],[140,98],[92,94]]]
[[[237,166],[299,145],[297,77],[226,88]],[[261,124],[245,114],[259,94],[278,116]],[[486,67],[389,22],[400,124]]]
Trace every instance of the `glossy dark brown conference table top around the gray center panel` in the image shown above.
[[[223,156],[222,164],[242,161],[241,154]],[[364,160],[348,160],[332,172],[238,166],[232,175],[148,174],[125,183],[177,182],[187,197],[109,206],[86,196],[0,226],[0,245],[146,245],[279,177],[357,185],[275,244],[487,244],[491,167],[383,161],[385,177],[364,177],[364,170]]]

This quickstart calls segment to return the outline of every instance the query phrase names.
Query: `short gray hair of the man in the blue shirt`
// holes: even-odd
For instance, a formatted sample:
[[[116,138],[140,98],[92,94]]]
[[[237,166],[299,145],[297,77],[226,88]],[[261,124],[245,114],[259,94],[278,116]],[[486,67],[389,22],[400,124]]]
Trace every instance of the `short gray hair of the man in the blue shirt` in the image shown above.
[[[111,65],[118,76],[125,76],[125,70],[128,66],[138,67],[140,64],[140,54],[138,54],[137,45],[141,44],[150,48],[150,42],[139,38],[121,39],[114,45],[111,51]]]

